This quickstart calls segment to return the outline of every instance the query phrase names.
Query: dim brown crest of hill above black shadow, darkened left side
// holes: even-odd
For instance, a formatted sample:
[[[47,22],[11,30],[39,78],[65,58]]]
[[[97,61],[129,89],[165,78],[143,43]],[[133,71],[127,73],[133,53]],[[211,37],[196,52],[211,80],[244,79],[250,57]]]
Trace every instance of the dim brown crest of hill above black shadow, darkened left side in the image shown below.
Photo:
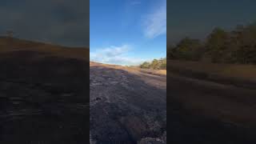
[[[88,61],[90,58],[89,48],[86,47],[67,47],[18,38],[0,37],[0,53],[17,50],[36,51],[65,58],[82,58]]]

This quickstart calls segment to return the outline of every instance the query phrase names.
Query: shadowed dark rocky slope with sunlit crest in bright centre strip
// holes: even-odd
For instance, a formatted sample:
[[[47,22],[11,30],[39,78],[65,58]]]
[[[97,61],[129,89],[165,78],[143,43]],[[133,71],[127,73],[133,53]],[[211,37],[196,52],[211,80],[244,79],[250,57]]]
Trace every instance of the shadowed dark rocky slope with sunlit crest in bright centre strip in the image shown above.
[[[166,143],[166,75],[90,62],[90,142]]]

